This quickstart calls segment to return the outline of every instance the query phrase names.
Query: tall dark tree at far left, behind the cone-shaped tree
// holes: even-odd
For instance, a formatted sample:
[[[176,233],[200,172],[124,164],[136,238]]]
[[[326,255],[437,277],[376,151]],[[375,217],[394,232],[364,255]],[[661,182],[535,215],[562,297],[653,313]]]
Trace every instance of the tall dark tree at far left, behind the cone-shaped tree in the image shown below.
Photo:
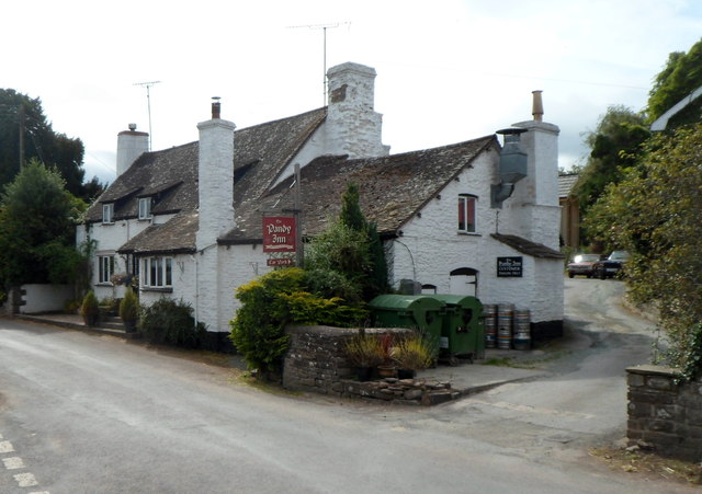
[[[24,163],[37,159],[47,166],[55,166],[68,192],[90,199],[95,191],[83,186],[83,153],[80,139],[52,129],[38,97],[0,89],[0,187],[12,182],[20,172],[20,154],[23,154]]]

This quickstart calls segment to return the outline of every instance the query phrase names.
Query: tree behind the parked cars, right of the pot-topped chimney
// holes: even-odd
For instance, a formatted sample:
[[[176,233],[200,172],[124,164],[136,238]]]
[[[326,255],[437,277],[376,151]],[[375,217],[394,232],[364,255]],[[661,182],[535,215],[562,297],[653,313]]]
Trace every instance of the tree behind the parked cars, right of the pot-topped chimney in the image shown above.
[[[586,136],[591,151],[573,191],[582,214],[600,198],[608,184],[620,182],[626,169],[635,165],[649,135],[643,116],[631,108],[618,105],[607,110],[597,129]]]

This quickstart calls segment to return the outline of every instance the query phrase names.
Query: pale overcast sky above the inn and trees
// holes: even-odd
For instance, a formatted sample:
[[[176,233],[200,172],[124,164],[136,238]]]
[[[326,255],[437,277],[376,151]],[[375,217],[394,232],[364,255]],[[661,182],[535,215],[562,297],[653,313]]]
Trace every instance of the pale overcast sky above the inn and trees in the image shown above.
[[[82,139],[86,177],[114,180],[129,123],[152,149],[197,139],[212,96],[238,128],[324,105],[327,67],[377,71],[390,152],[561,127],[559,165],[613,104],[642,110],[671,51],[702,36],[700,0],[13,1],[3,4],[0,87],[39,97],[54,130]],[[325,31],[320,25],[328,25]]]

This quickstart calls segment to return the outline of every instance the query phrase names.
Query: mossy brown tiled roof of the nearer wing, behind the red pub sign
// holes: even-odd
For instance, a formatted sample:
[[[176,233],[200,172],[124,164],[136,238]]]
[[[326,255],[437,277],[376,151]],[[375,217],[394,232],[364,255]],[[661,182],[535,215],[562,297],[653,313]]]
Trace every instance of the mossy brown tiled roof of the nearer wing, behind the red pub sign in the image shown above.
[[[302,169],[303,234],[321,231],[339,215],[347,184],[359,185],[360,205],[381,234],[399,230],[429,200],[441,200],[440,191],[471,166],[482,152],[498,150],[495,136],[452,146],[382,158],[349,160],[320,157]],[[292,177],[258,198],[235,209],[237,228],[222,243],[260,242],[263,212],[274,214],[294,207]],[[279,212],[280,214],[280,212]]]

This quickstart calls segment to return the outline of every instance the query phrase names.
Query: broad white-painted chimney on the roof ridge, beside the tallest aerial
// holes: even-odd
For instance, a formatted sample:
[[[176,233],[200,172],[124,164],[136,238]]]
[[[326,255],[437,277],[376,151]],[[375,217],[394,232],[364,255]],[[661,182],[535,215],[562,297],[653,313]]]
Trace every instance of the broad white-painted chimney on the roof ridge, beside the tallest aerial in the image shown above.
[[[373,110],[375,69],[347,62],[327,71],[329,106],[326,149],[350,158],[387,156],[382,140],[383,115]]]

